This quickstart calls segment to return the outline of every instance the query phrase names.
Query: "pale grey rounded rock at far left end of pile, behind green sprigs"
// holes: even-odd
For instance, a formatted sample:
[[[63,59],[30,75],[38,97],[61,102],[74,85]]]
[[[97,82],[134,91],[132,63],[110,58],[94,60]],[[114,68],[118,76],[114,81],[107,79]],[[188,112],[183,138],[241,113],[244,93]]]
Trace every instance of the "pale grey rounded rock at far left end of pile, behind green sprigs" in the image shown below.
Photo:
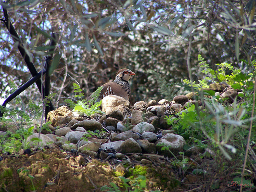
[[[52,139],[44,134],[40,134],[40,140],[42,141],[39,141],[39,143],[36,141],[36,142],[33,142],[31,141],[32,138],[38,138],[39,136],[39,133],[35,133],[35,134],[32,134],[30,136],[28,136],[27,138],[27,141],[26,143],[28,144],[27,146],[33,148],[33,147],[53,147],[54,146],[54,142],[52,141]]]

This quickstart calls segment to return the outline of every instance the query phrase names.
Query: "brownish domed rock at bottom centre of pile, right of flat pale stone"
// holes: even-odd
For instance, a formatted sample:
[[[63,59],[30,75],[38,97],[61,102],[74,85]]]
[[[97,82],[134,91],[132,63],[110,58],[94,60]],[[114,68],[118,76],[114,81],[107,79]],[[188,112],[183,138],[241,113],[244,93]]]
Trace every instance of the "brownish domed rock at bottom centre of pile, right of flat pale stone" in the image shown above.
[[[122,154],[141,153],[142,149],[140,148],[140,145],[133,138],[130,138],[130,139],[124,141],[120,145],[120,149],[118,152],[120,152]]]

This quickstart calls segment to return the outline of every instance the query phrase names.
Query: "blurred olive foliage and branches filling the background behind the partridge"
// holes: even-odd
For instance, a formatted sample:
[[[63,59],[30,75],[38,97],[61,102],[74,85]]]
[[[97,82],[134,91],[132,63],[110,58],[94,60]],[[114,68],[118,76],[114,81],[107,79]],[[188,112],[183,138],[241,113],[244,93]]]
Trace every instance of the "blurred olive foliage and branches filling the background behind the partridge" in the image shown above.
[[[136,73],[131,80],[132,103],[160,100],[160,86],[171,90],[168,85],[181,85],[185,78],[204,78],[198,54],[212,69],[228,62],[248,72],[240,59],[250,63],[256,54],[255,0],[9,0],[1,5],[38,71],[49,43],[42,31],[60,35],[56,52],[61,59],[51,77],[54,106],[74,96],[72,83],[80,84],[86,98],[114,80],[119,68]],[[3,99],[9,95],[8,81],[20,86],[31,77],[3,22],[0,60]],[[149,70],[168,84],[158,84]],[[35,85],[22,93],[24,103],[30,99],[41,100]]]

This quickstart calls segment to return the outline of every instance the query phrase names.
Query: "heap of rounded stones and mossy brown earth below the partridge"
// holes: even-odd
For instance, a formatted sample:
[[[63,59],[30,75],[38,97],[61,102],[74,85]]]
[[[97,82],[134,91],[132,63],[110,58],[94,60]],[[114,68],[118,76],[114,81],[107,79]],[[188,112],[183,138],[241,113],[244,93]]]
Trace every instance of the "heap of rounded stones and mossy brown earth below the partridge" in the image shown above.
[[[211,89],[232,100],[237,92],[225,88],[219,84]],[[62,106],[48,114],[52,133],[42,130],[39,143],[33,142],[39,134],[32,134],[26,141],[30,150],[1,155],[0,191],[96,192],[111,182],[117,186],[113,191],[131,191],[120,176],[141,191],[230,191],[232,188],[220,180],[218,188],[210,188],[218,176],[212,159],[198,158],[204,153],[200,149],[186,150],[190,164],[186,172],[173,164],[173,154],[182,160],[178,152],[184,151],[186,142],[165,118],[170,114],[178,117],[188,103],[195,102],[192,96],[176,96],[171,102],[140,101],[131,106],[127,100],[111,95],[102,100],[105,114],[92,117]],[[1,125],[0,134],[6,135],[10,127]],[[169,148],[162,150],[163,145]],[[215,176],[192,173],[201,166]],[[146,186],[140,183],[142,180],[146,180]]]

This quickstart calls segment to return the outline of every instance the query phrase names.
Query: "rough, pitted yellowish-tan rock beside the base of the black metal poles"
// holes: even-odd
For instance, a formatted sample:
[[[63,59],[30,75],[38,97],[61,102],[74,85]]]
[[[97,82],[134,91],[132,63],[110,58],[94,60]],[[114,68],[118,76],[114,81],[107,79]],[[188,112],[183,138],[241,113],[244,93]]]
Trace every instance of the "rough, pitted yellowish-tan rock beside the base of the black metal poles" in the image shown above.
[[[67,106],[61,106],[57,110],[48,113],[46,122],[50,121],[52,126],[57,127],[70,122],[73,118],[72,111]]]

